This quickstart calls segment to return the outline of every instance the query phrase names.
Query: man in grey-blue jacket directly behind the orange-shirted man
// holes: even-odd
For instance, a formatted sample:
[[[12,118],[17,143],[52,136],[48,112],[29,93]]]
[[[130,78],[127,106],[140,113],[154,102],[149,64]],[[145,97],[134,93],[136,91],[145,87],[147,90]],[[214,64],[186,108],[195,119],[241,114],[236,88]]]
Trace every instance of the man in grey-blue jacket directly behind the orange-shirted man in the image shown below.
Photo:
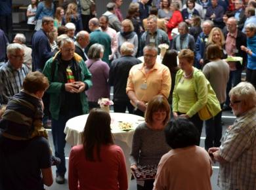
[[[158,18],[155,15],[148,16],[147,26],[148,31],[144,31],[140,37],[140,56],[142,56],[143,48],[146,45],[158,47],[162,43],[169,44],[167,33],[158,29]]]

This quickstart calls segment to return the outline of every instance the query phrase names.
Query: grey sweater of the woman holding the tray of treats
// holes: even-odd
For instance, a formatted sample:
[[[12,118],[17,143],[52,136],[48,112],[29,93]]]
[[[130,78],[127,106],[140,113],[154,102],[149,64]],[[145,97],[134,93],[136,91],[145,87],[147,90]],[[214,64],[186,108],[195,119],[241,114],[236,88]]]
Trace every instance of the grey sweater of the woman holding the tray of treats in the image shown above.
[[[165,142],[163,130],[152,130],[146,123],[140,124],[133,134],[131,165],[158,165],[161,157],[171,148]]]

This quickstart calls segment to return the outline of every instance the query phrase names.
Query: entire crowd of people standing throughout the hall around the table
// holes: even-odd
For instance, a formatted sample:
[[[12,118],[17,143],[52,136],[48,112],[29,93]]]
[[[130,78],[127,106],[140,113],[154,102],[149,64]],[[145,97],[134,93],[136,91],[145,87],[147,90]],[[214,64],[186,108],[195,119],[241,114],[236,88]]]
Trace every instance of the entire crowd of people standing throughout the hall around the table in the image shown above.
[[[83,145],[70,153],[70,189],[127,189],[123,151],[98,105],[110,86],[115,112],[145,118],[131,168],[158,165],[137,189],[211,189],[215,161],[221,189],[256,189],[256,1],[133,0],[126,17],[122,4],[97,15],[94,0],[32,0],[30,48],[23,33],[9,40],[9,11],[1,12],[9,4],[0,2],[0,189],[51,185],[54,161],[56,183],[65,183],[64,128],[87,113]],[[223,110],[237,117],[224,136]]]

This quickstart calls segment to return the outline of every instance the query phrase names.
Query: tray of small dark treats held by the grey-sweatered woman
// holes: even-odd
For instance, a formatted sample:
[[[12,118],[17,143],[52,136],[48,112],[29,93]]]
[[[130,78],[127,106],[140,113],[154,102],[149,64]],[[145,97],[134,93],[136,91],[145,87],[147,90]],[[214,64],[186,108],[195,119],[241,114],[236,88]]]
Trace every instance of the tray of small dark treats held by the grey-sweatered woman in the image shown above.
[[[154,180],[156,178],[156,172],[158,166],[138,166],[136,169],[131,169],[131,172],[136,180]]]

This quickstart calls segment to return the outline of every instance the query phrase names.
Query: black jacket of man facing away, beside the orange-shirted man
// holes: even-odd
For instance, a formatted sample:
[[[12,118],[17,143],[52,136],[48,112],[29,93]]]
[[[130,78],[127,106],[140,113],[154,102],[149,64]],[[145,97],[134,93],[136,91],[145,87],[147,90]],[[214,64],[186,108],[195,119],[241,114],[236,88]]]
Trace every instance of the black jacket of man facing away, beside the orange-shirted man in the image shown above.
[[[140,63],[141,61],[133,56],[121,56],[112,62],[108,83],[114,86],[114,101],[129,101],[125,90],[129,71],[131,67]]]

